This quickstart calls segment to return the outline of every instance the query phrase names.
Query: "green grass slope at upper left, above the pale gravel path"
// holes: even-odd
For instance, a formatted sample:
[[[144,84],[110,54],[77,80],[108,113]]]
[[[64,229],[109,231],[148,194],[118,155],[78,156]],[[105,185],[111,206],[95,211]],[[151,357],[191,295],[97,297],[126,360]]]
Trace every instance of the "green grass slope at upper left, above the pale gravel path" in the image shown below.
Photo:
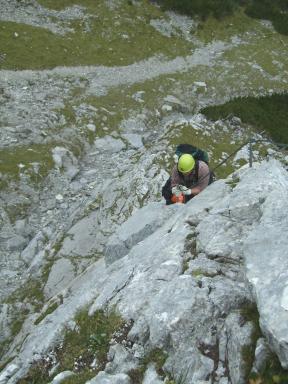
[[[56,8],[60,7],[58,3],[47,2]],[[0,52],[6,55],[0,69],[128,65],[155,54],[175,57],[191,50],[191,44],[183,39],[168,38],[155,31],[150,20],[163,15],[148,1],[141,5],[123,2],[117,11],[112,11],[104,0],[64,3],[88,6],[86,22],[71,21],[74,32],[65,36],[26,24],[0,23]],[[62,5],[61,2],[61,8]]]

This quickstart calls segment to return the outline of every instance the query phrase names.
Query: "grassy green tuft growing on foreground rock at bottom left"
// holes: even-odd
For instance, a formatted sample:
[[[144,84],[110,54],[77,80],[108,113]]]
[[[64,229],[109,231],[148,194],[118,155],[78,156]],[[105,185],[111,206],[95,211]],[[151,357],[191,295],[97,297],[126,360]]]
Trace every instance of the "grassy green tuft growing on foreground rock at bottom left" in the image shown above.
[[[115,312],[97,311],[88,316],[86,310],[79,312],[75,318],[73,330],[67,329],[64,340],[54,350],[59,368],[57,372],[73,371],[74,376],[65,379],[65,384],[81,384],[96,376],[107,363],[109,342],[117,331],[116,341],[126,337],[130,329],[122,318]],[[119,340],[118,340],[119,339]],[[92,366],[97,359],[97,367]],[[51,382],[48,372],[52,368],[49,359],[35,363],[28,375],[18,384],[46,384]]]

